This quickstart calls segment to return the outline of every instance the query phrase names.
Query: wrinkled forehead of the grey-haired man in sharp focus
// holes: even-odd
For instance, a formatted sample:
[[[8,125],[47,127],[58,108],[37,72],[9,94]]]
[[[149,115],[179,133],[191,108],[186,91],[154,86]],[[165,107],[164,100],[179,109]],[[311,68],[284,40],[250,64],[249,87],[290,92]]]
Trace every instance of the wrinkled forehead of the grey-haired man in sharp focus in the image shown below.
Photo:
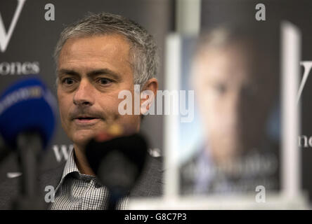
[[[131,69],[129,43],[117,34],[70,38],[58,58],[58,70]]]

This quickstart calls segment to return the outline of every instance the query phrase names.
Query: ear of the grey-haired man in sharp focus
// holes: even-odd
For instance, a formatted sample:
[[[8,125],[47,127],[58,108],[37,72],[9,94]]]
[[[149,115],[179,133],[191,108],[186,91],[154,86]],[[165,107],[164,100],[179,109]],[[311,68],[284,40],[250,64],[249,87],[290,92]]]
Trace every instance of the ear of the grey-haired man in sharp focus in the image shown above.
[[[158,80],[156,78],[150,78],[141,91],[140,100],[140,113],[146,114],[152,104],[155,104],[155,97],[158,90]]]

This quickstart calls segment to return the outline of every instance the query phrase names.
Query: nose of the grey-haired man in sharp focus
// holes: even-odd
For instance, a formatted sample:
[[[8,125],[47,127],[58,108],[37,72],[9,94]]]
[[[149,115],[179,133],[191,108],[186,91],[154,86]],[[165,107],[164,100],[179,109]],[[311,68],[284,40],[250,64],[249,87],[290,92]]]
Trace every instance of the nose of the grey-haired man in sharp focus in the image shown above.
[[[94,104],[93,85],[84,78],[74,92],[73,102],[77,106],[92,106]]]

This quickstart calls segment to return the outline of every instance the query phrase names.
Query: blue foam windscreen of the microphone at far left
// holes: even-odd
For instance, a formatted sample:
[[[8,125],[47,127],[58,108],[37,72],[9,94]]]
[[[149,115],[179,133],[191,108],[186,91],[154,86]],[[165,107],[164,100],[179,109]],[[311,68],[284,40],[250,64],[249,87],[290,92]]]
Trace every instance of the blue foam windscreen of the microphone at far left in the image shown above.
[[[44,147],[56,126],[56,99],[36,77],[25,78],[8,87],[0,97],[0,132],[15,148],[20,132],[38,132]]]

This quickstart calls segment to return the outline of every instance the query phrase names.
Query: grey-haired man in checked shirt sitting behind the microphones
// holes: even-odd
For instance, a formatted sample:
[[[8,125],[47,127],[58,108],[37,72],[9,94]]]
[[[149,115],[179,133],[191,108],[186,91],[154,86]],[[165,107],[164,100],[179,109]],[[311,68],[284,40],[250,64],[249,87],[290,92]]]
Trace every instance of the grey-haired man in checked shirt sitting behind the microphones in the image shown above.
[[[155,42],[136,22],[110,13],[91,14],[63,30],[54,56],[60,120],[74,149],[65,167],[44,174],[41,186],[56,187],[49,209],[107,209],[108,189],[90,168],[85,146],[112,125],[140,130],[141,115],[119,113],[119,103],[124,99],[118,94],[129,90],[134,97],[135,84],[141,91],[156,94]],[[141,99],[141,105],[151,101]],[[141,113],[148,109],[141,108]],[[149,158],[145,168],[129,196],[161,194],[160,162]],[[117,209],[126,209],[128,200],[121,200]]]

